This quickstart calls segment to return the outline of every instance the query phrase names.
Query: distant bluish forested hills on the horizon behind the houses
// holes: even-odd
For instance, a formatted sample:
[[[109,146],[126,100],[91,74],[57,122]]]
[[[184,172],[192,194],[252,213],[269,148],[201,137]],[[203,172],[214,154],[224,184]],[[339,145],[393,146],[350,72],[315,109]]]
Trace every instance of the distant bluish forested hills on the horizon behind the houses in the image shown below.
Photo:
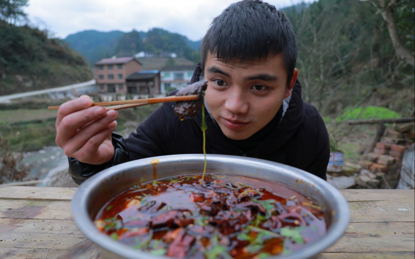
[[[69,46],[81,53],[90,65],[101,58],[111,56],[133,56],[140,51],[153,52],[156,56],[164,51],[174,52],[197,63],[200,41],[191,41],[186,36],[154,28],[148,32],[81,31],[65,39]]]

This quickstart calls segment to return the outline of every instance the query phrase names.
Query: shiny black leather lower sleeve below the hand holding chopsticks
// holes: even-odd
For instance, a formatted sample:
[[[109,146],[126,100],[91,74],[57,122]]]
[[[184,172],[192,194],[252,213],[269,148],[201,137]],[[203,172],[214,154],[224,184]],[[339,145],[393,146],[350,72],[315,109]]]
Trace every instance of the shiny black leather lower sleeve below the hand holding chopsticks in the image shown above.
[[[115,132],[112,133],[111,138],[112,146],[114,147],[114,156],[110,161],[104,164],[90,165],[83,162],[79,162],[79,160],[73,157],[68,157],[69,175],[71,175],[73,181],[76,184],[81,184],[88,177],[104,169],[107,169],[108,167],[112,167],[113,165],[119,165],[121,163],[129,161],[129,152],[124,138],[122,138],[121,135]]]

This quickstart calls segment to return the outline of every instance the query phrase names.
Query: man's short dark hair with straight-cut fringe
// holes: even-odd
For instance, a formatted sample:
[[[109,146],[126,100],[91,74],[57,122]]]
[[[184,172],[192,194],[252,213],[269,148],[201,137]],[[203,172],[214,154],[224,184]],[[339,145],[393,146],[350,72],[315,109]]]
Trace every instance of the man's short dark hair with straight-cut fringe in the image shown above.
[[[265,60],[282,53],[288,86],[297,59],[291,22],[283,11],[261,0],[233,3],[213,19],[200,45],[202,73],[207,51],[224,62]]]

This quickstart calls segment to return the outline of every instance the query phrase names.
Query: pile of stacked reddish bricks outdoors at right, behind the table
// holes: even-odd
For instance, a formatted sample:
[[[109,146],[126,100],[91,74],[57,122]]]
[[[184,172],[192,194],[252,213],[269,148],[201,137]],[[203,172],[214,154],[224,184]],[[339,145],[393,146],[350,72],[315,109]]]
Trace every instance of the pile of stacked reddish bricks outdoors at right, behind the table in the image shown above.
[[[395,130],[388,129],[371,153],[364,154],[359,165],[371,172],[388,173],[400,167],[403,152],[415,140],[412,123],[397,124]]]

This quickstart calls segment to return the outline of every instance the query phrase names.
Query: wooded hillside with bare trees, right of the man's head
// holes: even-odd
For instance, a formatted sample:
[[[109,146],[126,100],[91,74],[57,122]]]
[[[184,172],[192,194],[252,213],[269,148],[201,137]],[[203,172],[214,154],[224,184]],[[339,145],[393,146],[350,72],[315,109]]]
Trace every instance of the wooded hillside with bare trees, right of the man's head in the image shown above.
[[[345,107],[414,109],[414,66],[398,54],[381,7],[383,0],[319,0],[287,8],[298,43],[303,99],[322,114]],[[403,48],[414,56],[414,0],[391,11]]]

